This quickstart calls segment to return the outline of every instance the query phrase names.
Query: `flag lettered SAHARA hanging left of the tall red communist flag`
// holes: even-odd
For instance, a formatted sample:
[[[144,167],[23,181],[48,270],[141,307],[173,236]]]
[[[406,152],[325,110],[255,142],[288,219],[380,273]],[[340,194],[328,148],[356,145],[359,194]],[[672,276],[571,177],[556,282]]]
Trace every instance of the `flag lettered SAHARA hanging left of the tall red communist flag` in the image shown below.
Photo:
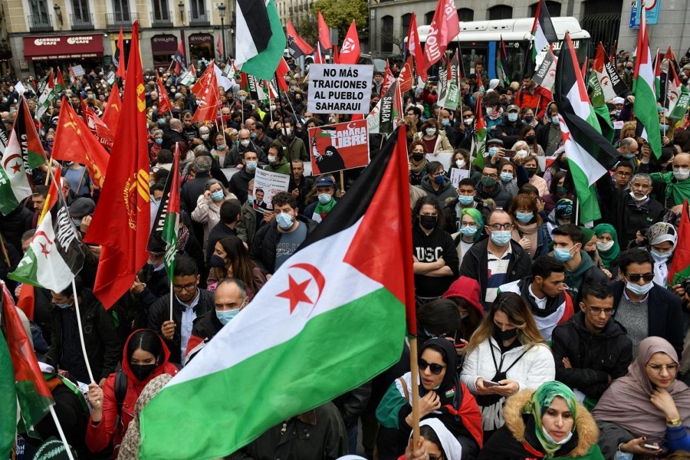
[[[31,245],[17,269],[8,275],[15,281],[55,292],[69,286],[84,265],[79,232],[72,224],[59,183],[56,176]]]

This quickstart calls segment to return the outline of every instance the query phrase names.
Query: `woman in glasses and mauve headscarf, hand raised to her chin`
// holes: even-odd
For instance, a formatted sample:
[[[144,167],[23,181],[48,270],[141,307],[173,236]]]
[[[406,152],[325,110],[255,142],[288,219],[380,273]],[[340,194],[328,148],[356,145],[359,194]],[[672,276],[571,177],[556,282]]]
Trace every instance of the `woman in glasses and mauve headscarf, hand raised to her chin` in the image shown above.
[[[661,337],[647,337],[627,375],[616,379],[592,411],[607,459],[616,452],[639,458],[690,450],[690,388],[677,380],[678,355]],[[627,458],[627,457],[620,457]]]

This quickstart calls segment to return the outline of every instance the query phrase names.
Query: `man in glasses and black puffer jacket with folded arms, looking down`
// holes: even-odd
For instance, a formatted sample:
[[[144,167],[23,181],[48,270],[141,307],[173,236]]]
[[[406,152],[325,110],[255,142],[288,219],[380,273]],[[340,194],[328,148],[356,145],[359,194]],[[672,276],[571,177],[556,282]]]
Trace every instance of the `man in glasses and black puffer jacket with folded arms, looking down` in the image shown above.
[[[612,315],[613,293],[608,284],[585,284],[580,311],[558,325],[551,336],[556,380],[591,402],[613,380],[627,374],[633,359],[632,342]]]

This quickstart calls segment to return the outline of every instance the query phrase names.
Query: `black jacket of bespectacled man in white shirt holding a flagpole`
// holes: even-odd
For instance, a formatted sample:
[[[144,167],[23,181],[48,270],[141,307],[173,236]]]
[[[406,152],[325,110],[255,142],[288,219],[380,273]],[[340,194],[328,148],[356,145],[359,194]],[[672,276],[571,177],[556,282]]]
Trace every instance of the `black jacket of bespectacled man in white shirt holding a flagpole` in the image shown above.
[[[206,289],[199,289],[201,296],[199,297],[199,303],[194,307],[194,312],[197,313],[197,318],[203,316],[204,314],[215,310],[215,304],[213,303],[213,293],[206,291]],[[180,363],[182,362],[182,352],[180,347],[182,346],[182,335],[181,335],[181,325],[182,325],[182,308],[180,302],[177,299],[173,300],[173,321],[175,321],[175,333],[172,340],[165,340],[165,344],[170,350],[170,362]],[[170,294],[162,296],[151,305],[151,309],[148,311],[148,328],[158,332],[158,335],[162,337],[160,329],[165,321],[170,319]]]

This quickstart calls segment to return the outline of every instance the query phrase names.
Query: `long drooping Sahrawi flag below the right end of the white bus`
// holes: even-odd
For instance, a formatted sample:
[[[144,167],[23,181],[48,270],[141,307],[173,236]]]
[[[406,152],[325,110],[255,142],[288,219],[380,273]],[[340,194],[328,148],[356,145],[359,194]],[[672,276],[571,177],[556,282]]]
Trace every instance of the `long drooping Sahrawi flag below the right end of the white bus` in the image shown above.
[[[566,33],[556,67],[553,100],[559,107],[560,130],[568,166],[575,183],[581,222],[601,218],[593,184],[618,158],[618,151],[601,135],[599,121],[590,104],[577,63],[572,40]],[[611,158],[607,158],[607,154]],[[604,166],[606,165],[606,166]],[[604,178],[603,180],[608,180]]]

